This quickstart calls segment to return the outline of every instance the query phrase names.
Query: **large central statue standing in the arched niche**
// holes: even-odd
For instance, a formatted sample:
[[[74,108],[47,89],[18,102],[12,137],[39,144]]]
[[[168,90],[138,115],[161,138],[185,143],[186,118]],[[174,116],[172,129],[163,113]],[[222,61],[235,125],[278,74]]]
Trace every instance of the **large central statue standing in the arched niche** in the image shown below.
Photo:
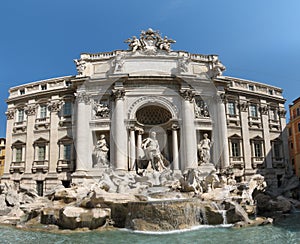
[[[156,171],[167,169],[166,164],[168,163],[168,161],[160,152],[155,132],[151,132],[150,136],[143,140],[142,149],[145,153],[145,159],[142,160],[146,160],[148,162],[148,168],[150,166],[153,170]]]

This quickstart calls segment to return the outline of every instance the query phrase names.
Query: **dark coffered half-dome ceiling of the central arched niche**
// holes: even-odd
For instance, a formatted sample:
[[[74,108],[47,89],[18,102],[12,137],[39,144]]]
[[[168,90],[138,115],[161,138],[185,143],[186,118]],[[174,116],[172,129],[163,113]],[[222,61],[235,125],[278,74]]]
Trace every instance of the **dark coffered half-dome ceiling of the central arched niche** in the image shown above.
[[[168,122],[172,118],[172,114],[167,109],[150,105],[139,109],[136,112],[136,119],[144,125],[161,125]]]

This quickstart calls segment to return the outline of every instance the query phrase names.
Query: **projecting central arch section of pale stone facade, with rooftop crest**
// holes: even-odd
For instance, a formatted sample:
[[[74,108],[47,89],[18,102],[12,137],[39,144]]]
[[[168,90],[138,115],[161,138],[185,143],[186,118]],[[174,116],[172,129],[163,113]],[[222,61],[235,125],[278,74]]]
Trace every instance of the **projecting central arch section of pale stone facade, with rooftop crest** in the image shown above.
[[[227,167],[222,101],[227,83],[213,80],[225,69],[218,56],[172,51],[175,41],[152,29],[126,42],[129,50],[85,53],[75,60],[74,175],[97,174],[105,167],[126,171],[149,167],[147,160],[153,155],[148,155],[145,142],[151,135],[160,154],[154,153],[154,158],[164,162],[162,167],[197,168],[204,134],[210,140],[211,157],[203,163]],[[106,143],[105,163],[96,146],[101,137]]]

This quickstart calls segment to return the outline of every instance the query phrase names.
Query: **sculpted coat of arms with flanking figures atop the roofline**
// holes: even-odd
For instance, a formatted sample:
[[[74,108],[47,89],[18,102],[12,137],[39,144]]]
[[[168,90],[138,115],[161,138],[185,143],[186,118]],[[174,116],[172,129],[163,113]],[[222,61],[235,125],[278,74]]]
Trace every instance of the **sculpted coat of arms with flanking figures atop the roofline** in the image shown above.
[[[148,54],[156,54],[157,50],[171,51],[171,44],[176,41],[169,39],[167,36],[161,37],[159,31],[154,31],[149,28],[146,31],[141,31],[140,38],[136,36],[128,38],[126,43],[129,43],[129,49],[132,52],[144,51]]]

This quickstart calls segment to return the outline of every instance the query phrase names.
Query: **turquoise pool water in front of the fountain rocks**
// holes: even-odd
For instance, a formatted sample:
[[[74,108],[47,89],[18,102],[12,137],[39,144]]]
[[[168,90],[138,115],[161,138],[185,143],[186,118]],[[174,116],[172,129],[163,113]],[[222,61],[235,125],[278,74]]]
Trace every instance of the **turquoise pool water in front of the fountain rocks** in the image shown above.
[[[0,227],[0,243],[300,243],[300,213],[274,225],[241,229],[199,227],[175,233],[136,233],[127,230],[53,234]]]

